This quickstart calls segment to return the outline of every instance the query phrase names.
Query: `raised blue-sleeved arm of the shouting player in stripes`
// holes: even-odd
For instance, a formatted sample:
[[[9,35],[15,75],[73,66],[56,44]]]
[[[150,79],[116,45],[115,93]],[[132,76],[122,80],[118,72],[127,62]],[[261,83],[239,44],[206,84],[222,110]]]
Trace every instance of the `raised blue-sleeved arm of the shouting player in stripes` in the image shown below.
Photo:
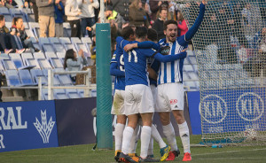
[[[204,18],[205,4],[207,4],[206,1],[202,1],[202,3],[200,4],[200,13],[199,13],[197,19],[195,20],[193,26],[191,28],[189,28],[187,33],[184,35],[184,41],[188,42],[188,41],[192,40],[192,37],[199,30],[200,24]]]

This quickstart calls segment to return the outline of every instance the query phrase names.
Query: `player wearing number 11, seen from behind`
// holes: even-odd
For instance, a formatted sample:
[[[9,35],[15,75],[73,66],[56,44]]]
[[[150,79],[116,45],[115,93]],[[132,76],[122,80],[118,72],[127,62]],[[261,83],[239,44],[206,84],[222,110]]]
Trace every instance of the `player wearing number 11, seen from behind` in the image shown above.
[[[145,27],[137,27],[136,41],[131,43],[144,42],[146,40],[147,29]],[[129,42],[128,42],[129,43]],[[124,47],[127,42],[123,42]],[[176,55],[163,56],[156,50],[151,49],[133,49],[129,53],[124,51],[124,64],[126,76],[125,88],[125,113],[128,115],[128,126],[124,129],[122,149],[120,158],[123,162],[136,162],[132,160],[129,153],[129,144],[134,129],[137,126],[138,114],[140,113],[143,128],[141,132],[141,153],[140,161],[151,162],[154,159],[147,157],[148,145],[151,137],[151,126],[153,119],[153,94],[149,87],[149,79],[147,74],[147,58],[155,58],[161,62],[174,61],[178,58],[185,58],[186,52],[183,51]]]

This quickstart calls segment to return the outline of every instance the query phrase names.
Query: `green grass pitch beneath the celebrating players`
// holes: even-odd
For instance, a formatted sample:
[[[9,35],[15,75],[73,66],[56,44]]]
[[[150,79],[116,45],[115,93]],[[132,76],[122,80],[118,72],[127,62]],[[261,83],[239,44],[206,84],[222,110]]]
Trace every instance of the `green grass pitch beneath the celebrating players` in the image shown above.
[[[180,151],[183,151],[179,137],[176,137],[177,145]],[[200,136],[191,136],[192,144],[200,143]],[[94,144],[66,146],[59,148],[46,148],[27,151],[9,151],[0,153],[0,162],[2,163],[114,163],[114,150],[92,151]],[[140,144],[137,145],[139,153]],[[155,158],[159,158],[159,146],[154,143]],[[192,147],[192,163],[194,162],[266,162],[266,146],[227,146],[223,148],[211,147]],[[183,153],[183,152],[182,152]],[[178,157],[176,161],[182,162],[183,157]]]

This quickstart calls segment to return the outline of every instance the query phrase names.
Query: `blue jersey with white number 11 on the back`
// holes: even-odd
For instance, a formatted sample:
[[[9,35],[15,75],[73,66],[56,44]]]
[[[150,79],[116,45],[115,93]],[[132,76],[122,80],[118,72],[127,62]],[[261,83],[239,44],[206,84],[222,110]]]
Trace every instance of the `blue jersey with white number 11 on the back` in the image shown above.
[[[124,47],[129,42],[122,43]],[[133,41],[130,43],[138,43]],[[124,51],[124,62],[126,70],[126,85],[144,84],[149,85],[147,73],[147,58],[153,56],[155,50],[152,49],[133,49],[129,52]]]

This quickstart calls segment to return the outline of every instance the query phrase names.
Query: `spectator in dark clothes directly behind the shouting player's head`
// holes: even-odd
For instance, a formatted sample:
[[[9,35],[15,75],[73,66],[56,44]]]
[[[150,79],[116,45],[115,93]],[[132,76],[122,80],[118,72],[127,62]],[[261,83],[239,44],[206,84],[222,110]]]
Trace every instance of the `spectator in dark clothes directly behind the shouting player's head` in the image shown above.
[[[167,20],[167,16],[168,16],[168,10],[165,8],[160,9],[160,17],[154,21],[153,29],[157,31],[158,40],[165,37],[163,32],[163,23],[164,21]]]

